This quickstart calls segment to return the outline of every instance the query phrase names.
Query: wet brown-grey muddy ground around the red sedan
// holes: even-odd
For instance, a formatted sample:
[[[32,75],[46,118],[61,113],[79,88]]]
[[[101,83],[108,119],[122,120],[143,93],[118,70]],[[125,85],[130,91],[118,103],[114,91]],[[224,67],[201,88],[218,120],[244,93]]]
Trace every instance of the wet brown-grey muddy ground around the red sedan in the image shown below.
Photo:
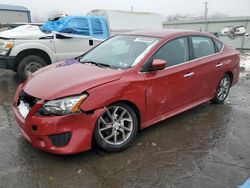
[[[142,131],[120,153],[41,152],[12,113],[16,74],[0,69],[0,187],[236,187],[250,177],[250,74],[223,105],[200,105]]]

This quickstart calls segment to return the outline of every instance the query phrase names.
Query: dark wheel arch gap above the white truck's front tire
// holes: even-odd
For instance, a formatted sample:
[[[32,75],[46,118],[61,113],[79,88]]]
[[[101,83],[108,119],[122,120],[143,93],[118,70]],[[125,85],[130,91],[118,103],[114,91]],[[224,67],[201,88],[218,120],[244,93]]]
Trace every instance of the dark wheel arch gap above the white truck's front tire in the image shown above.
[[[43,58],[46,63],[49,65],[52,63],[52,60],[49,56],[49,54],[47,52],[45,52],[44,50],[41,49],[36,49],[36,48],[32,48],[32,49],[27,49],[27,50],[23,50],[21,52],[19,52],[15,58],[15,66],[14,66],[14,70],[17,71],[17,67],[20,63],[20,61],[28,56],[28,55],[36,55],[39,56],[41,58]]]

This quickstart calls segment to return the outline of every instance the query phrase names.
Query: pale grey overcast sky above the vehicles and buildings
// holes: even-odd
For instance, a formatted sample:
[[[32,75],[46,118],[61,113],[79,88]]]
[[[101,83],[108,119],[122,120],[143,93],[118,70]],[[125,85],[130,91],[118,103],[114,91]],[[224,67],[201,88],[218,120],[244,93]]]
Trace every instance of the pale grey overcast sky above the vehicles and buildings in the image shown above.
[[[82,15],[92,9],[119,9],[156,12],[163,16],[174,14],[203,15],[205,0],[1,0],[1,4],[22,5],[32,16],[47,18],[52,12]],[[208,15],[250,16],[250,0],[206,0]]]

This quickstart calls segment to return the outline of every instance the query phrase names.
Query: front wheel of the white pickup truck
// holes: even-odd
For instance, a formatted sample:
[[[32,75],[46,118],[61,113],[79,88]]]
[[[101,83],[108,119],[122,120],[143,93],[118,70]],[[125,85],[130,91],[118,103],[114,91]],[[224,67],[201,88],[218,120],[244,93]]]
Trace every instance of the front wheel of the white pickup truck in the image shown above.
[[[17,67],[18,78],[20,79],[20,81],[24,81],[32,73],[46,65],[47,63],[42,57],[36,55],[28,55],[20,61]]]

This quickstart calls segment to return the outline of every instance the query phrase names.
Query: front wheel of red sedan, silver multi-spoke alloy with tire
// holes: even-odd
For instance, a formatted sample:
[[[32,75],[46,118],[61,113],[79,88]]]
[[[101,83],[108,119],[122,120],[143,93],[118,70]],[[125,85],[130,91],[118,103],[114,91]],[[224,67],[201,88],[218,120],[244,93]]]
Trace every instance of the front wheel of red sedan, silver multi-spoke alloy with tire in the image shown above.
[[[99,116],[93,136],[100,148],[115,152],[126,149],[137,131],[138,121],[134,110],[127,104],[115,103]]]

